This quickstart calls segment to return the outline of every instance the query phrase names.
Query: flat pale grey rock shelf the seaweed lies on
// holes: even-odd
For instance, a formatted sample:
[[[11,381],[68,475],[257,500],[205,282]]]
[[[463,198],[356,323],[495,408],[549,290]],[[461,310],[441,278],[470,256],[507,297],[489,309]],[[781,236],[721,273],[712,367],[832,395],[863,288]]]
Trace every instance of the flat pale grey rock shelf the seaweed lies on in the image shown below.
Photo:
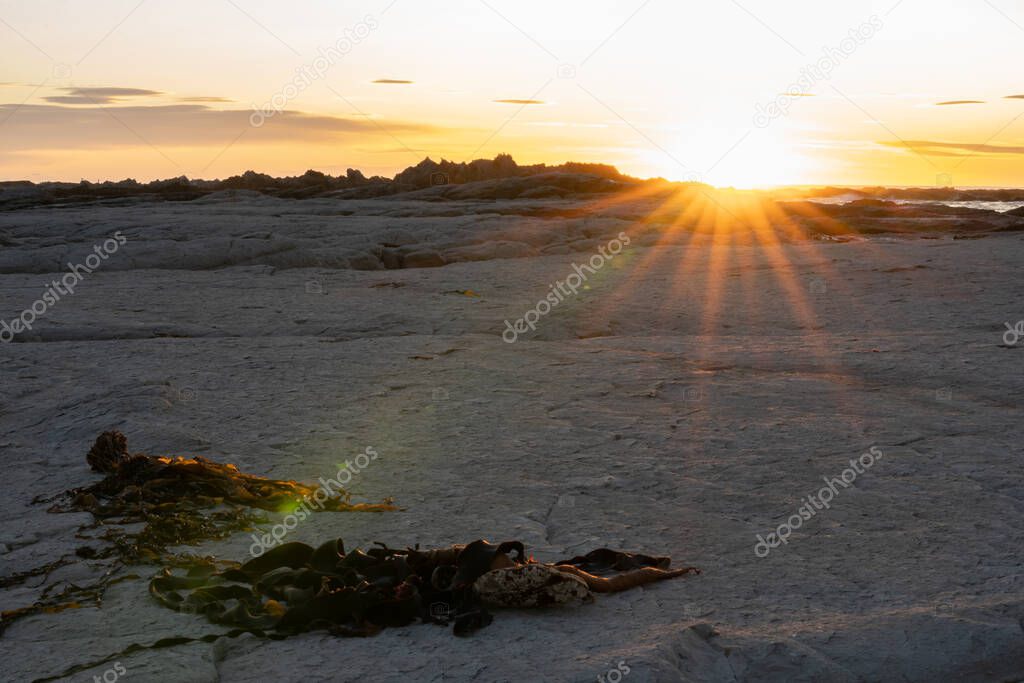
[[[698,239],[645,220],[650,197],[474,184],[0,212],[8,323],[127,239],[0,344],[0,573],[84,543],[88,515],[31,501],[95,481],[83,455],[101,431],[309,482],[373,447],[347,487],[403,511],[319,513],[289,540],[521,539],[542,561],[608,546],[703,573],[511,610],[470,640],[425,625],[144,649],[119,659],[125,680],[583,682],[620,663],[629,683],[1024,677],[1024,339],[1007,328],[1024,318],[1024,236],[953,240],[947,216],[927,240]],[[577,293],[540,304],[624,231]],[[252,543],[197,552],[244,560]],[[156,570],[100,608],[14,624],[0,678],[217,633],[151,600]]]

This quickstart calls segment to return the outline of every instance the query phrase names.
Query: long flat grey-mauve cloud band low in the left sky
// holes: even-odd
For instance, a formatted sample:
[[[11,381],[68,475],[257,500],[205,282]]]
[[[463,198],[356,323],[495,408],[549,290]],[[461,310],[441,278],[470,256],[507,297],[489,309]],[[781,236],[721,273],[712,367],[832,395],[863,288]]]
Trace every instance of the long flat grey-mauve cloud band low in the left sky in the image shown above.
[[[259,128],[249,119],[251,110],[213,110],[204,104],[153,106],[58,106],[56,104],[0,104],[0,133],[5,151],[85,150],[122,145],[223,146],[245,133],[246,143],[337,143],[351,137],[365,140],[380,134],[381,127],[401,136],[433,130],[400,121],[369,121],[362,117],[333,116],[285,111],[267,118]]]

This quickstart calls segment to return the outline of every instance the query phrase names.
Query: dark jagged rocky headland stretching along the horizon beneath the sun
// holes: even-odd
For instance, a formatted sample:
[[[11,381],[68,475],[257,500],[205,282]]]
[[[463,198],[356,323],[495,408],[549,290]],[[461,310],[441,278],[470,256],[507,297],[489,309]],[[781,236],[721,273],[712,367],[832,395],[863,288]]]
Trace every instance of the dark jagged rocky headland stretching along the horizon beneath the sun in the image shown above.
[[[613,197],[613,202],[602,198]],[[472,162],[425,159],[393,178],[367,177],[355,169],[332,176],[309,170],[275,178],[247,171],[220,180],[186,177],[138,182],[0,182],[0,211],[51,208],[116,209],[177,203],[304,200],[304,206],[348,202],[345,215],[379,211],[407,215],[433,205],[444,215],[497,212],[536,218],[612,217],[633,230],[751,238],[765,222],[780,239],[851,239],[894,233],[976,237],[1024,230],[1024,189],[954,187],[783,187],[773,190],[716,188],[664,178],[640,179],[604,164],[520,166],[509,155]],[[312,200],[316,200],[315,202]],[[366,206],[378,201],[392,206]],[[439,209],[437,205],[447,205]],[[190,205],[201,211],[198,205]],[[402,208],[404,207],[404,208]],[[687,209],[688,208],[688,209]],[[687,209],[687,210],[684,210]],[[324,210],[324,207],[317,211]],[[622,229],[622,226],[615,230]],[[0,236],[2,238],[2,236]],[[436,259],[435,259],[436,260]]]

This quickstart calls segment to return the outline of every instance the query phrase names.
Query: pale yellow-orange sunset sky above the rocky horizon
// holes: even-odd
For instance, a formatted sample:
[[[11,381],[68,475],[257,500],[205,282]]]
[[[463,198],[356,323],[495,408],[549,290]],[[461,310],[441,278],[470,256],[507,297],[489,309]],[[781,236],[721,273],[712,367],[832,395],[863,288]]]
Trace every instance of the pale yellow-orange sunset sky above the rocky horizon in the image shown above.
[[[1024,0],[0,1],[0,179],[1024,186]]]

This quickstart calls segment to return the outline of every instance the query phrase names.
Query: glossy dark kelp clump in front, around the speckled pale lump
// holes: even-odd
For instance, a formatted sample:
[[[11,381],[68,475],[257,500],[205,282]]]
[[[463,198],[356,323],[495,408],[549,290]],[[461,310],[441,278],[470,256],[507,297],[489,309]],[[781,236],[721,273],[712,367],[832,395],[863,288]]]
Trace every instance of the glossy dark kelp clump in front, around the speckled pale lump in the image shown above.
[[[553,575],[575,577],[596,592],[699,573],[694,567],[669,569],[670,562],[601,548],[543,566]],[[175,573],[165,568],[150,583],[150,592],[171,609],[261,634],[326,630],[365,637],[420,622],[452,624],[455,635],[466,636],[494,618],[474,590],[477,580],[531,565],[538,563],[525,557],[517,541],[495,545],[480,540],[426,551],[378,543],[346,552],[336,539],[317,548],[287,543],[221,571],[196,566]]]

